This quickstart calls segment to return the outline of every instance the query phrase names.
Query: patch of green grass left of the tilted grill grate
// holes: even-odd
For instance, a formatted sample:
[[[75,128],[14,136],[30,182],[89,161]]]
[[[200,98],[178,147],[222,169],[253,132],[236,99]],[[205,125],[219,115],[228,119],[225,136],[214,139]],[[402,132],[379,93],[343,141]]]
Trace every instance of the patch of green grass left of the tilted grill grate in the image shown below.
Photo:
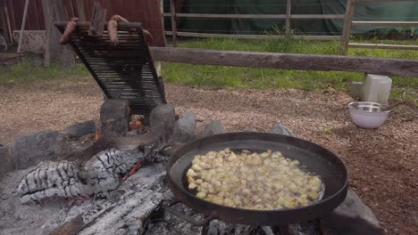
[[[24,60],[10,67],[0,67],[0,85],[28,84],[55,79],[77,79],[88,76],[84,65],[76,64],[73,68],[64,68],[54,63],[49,68],[37,59]]]

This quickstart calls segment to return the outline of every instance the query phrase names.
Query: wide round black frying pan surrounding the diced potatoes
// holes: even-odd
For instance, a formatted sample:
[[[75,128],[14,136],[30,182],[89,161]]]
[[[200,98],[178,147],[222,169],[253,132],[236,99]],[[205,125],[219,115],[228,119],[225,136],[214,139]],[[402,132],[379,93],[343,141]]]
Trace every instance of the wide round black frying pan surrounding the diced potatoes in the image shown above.
[[[297,159],[307,170],[321,176],[325,183],[322,199],[314,205],[272,211],[225,207],[197,198],[188,190],[186,172],[197,154],[210,150],[280,150],[287,158]],[[268,133],[217,134],[198,139],[176,150],[167,166],[169,187],[174,196],[196,212],[225,222],[282,226],[301,223],[329,214],[347,196],[347,169],[332,152],[295,137]],[[172,208],[171,208],[172,210]]]

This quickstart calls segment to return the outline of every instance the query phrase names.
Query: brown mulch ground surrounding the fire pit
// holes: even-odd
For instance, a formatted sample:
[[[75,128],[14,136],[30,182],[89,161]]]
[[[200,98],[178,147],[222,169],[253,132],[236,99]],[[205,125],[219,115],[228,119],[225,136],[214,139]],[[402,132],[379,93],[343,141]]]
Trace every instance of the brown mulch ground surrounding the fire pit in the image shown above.
[[[178,112],[196,112],[201,130],[210,119],[230,131],[276,123],[335,152],[347,164],[350,186],[388,234],[418,234],[418,118],[412,106],[393,110],[376,130],[357,128],[344,93],[299,90],[210,89],[166,85]],[[0,86],[0,143],[41,130],[63,130],[98,119],[103,95],[90,81]]]

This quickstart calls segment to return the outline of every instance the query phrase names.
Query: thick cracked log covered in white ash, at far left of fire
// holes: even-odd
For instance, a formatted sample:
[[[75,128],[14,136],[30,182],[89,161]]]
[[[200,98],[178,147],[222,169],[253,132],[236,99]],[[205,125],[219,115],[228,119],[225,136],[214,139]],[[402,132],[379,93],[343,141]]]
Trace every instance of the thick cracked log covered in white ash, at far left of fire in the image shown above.
[[[21,179],[17,192],[23,203],[54,196],[104,197],[116,190],[123,176],[154,148],[155,145],[135,150],[104,150],[85,163],[42,162]]]

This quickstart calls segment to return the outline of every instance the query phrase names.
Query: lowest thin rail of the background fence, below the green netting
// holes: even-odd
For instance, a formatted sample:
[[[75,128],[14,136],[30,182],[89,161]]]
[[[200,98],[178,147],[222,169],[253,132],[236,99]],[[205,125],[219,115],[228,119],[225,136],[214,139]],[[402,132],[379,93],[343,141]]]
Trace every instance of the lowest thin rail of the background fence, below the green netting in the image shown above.
[[[165,35],[172,35],[172,31],[165,31]],[[207,34],[207,33],[191,33],[177,32],[177,36],[193,36],[193,37],[221,37],[221,38],[241,38],[241,39],[283,39],[285,36],[280,35],[230,35],[230,34]],[[341,36],[291,36],[293,39],[305,40],[340,40]]]

